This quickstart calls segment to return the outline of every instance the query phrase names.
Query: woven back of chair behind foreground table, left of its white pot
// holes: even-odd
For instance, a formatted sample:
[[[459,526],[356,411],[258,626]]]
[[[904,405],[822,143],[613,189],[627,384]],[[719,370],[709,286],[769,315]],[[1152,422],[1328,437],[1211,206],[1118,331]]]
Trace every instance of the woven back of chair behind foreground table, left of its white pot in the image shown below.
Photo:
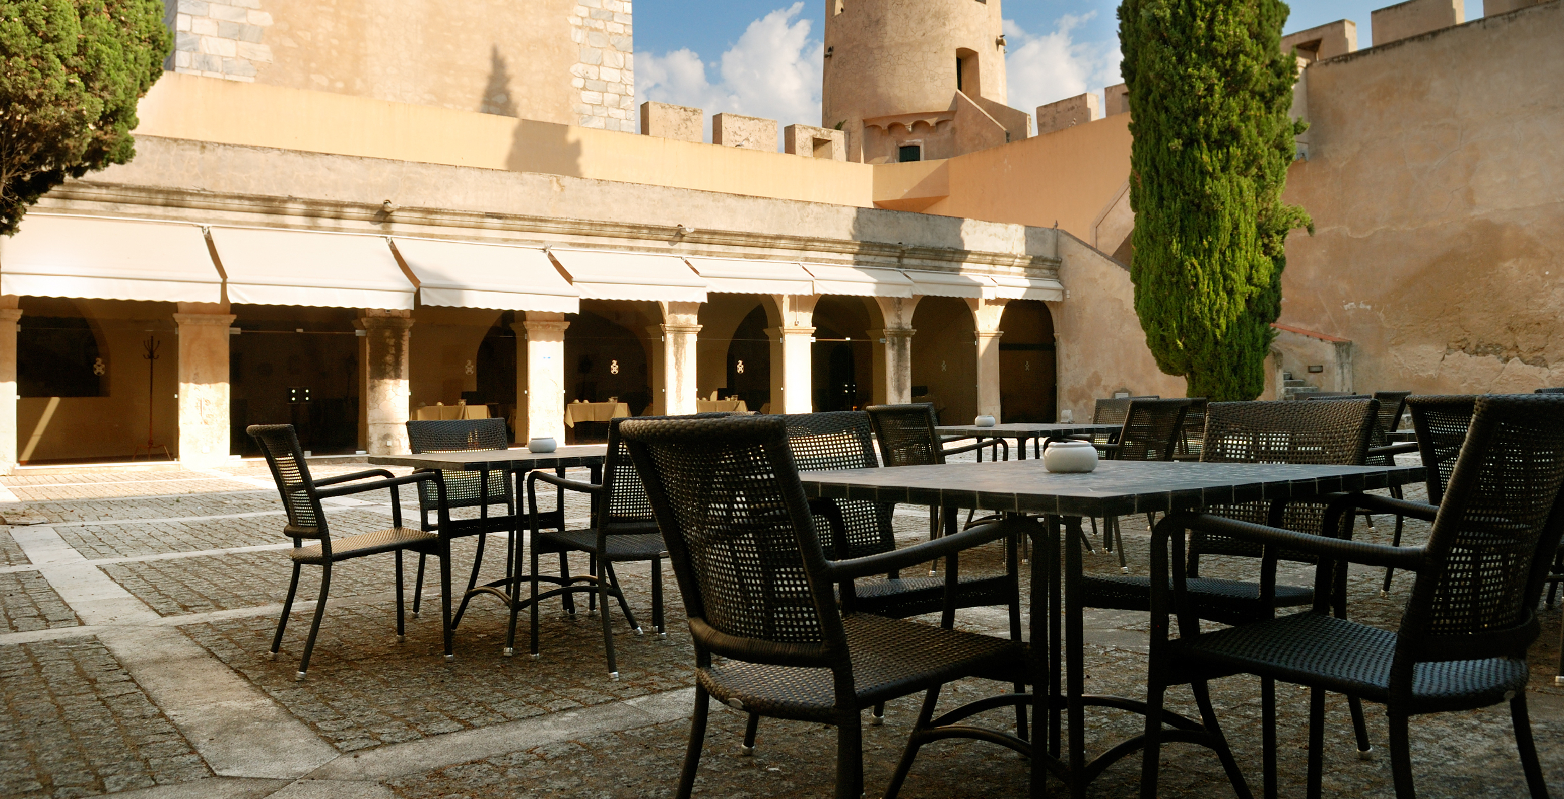
[[[866,411],[795,413],[782,419],[793,463],[801,472],[879,466]],[[821,547],[827,560],[862,558],[896,549],[893,503],[838,499],[837,508],[841,510],[843,527],[848,530],[848,552],[835,552],[830,536],[824,535]],[[815,518],[816,532],[827,530],[826,524],[826,519]]]

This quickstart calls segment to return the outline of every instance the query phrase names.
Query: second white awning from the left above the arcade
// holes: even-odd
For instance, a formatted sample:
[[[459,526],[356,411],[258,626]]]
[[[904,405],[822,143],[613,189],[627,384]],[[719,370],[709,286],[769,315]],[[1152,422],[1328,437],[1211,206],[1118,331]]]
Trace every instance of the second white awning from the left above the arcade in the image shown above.
[[[213,227],[228,302],[413,308],[413,283],[385,236]]]

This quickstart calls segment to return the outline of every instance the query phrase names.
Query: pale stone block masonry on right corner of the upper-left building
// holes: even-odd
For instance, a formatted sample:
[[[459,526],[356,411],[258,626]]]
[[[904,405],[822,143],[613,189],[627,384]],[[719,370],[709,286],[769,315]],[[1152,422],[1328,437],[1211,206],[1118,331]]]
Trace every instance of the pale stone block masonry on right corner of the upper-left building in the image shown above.
[[[571,67],[576,124],[635,133],[635,36],[630,0],[580,0],[571,11],[580,61]]]

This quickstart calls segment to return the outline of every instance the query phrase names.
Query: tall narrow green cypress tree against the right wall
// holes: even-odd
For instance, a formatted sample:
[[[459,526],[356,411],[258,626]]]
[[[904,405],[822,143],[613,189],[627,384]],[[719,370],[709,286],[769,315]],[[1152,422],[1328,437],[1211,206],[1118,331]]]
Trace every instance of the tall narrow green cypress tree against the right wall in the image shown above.
[[[1281,0],[1123,0],[1135,313],[1157,366],[1189,396],[1250,400],[1281,314],[1282,203],[1297,61]]]

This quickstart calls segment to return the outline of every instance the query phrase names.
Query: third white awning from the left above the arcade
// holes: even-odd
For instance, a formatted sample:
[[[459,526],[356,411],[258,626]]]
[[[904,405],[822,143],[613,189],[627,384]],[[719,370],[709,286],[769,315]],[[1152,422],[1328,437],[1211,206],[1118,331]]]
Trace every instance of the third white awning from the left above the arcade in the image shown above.
[[[418,278],[424,305],[577,313],[571,283],[540,247],[444,239],[391,239]]]

